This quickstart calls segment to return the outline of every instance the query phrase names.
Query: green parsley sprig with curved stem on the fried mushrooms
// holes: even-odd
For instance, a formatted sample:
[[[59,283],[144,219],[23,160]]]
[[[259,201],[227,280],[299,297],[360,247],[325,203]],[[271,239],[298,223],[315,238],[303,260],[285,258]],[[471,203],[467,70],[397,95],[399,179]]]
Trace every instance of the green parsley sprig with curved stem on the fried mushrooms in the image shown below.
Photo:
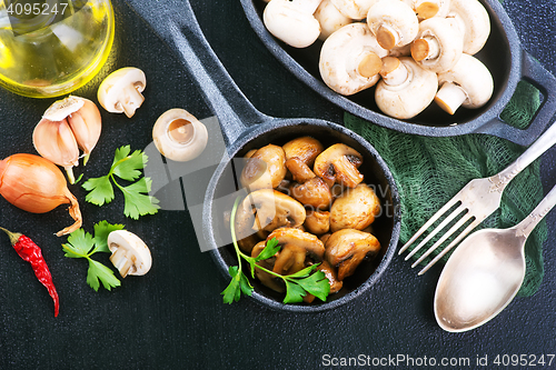
[[[237,239],[236,239],[236,228],[235,228],[235,219],[236,212],[239,204],[240,198],[236,199],[234,203],[234,208],[231,209],[230,217],[230,230],[231,230],[231,239],[234,241],[234,248],[236,250],[236,254],[238,257],[238,266],[231,266],[228,272],[231,276],[231,281],[228,287],[222,291],[224,302],[231,304],[232,302],[239,301],[241,297],[241,292],[246,296],[251,296],[254,288],[247,279],[247,276],[242,272],[241,268],[241,259],[246,260],[249,263],[251,270],[251,277],[255,278],[255,269],[260,269],[271,276],[284,280],[286,284],[286,297],[284,298],[284,303],[298,303],[302,302],[304,297],[307,294],[312,294],[319,298],[321,301],[326,301],[328,293],[330,292],[330,284],[328,279],[326,278],[322,271],[315,271],[317,269],[317,264],[309,266],[296,273],[281,276],[274,271],[270,271],[259,264],[257,262],[266,260],[272,256],[275,256],[279,250],[280,246],[278,244],[278,240],[272,238],[268,240],[265,249],[257,257],[249,257],[241,252],[239,249]]]

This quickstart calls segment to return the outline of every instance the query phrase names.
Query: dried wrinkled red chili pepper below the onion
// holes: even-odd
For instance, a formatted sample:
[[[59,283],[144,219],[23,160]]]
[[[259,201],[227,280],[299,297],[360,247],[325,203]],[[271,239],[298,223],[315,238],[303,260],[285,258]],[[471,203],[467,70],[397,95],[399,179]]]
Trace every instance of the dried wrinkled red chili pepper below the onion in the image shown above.
[[[58,298],[58,292],[56,291],[54,283],[52,282],[52,276],[48,269],[47,262],[42,258],[42,252],[39,246],[37,246],[30,238],[23,236],[19,232],[11,232],[4,228],[0,228],[3,232],[10,237],[10,242],[13,246],[16,252],[24,261],[31,263],[34,271],[34,276],[39,281],[48,289],[48,293],[52,297],[54,301],[54,317],[58,316],[60,310],[60,300]]]

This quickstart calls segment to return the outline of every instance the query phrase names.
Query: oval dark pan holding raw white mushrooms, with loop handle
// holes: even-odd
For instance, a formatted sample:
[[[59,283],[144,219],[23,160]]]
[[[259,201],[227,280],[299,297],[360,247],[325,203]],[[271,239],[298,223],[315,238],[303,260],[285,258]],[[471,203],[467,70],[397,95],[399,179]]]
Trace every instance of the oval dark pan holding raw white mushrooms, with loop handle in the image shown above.
[[[556,79],[498,0],[241,0],[268,50],[346,111],[397,131],[488,133],[527,146],[556,111]],[[526,81],[544,96],[526,130],[499,114]]]

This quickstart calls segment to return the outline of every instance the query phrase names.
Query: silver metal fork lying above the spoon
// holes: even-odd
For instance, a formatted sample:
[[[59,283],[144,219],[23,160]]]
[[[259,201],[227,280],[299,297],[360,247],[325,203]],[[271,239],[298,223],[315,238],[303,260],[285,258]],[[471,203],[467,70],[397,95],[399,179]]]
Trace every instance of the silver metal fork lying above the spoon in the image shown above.
[[[440,208],[416,233],[401,247],[399,254],[404,253],[427,229],[429,229],[441,216],[456,207],[454,211],[448,213],[446,218],[415,247],[409,254],[406,256],[406,261],[417,253],[426,243],[428,243],[438,232],[444,230],[455,220],[448,231],[438,239],[421,257],[419,257],[411,268],[416,267],[425,260],[434,250],[440,247],[450,237],[456,236],[456,232],[465,226],[465,229],[440,252],[438,253],[419,274],[425,273],[433,264],[435,264],[444,254],[457,246],[473,229],[483,222],[490,213],[500,206],[502,193],[507,184],[523,169],[529,166],[535,159],[547,151],[556,143],[556,124],[552,124],[545,133],[543,133],[519,158],[517,158],[508,168],[494,174],[489,178],[474,179],[467,183],[454,198],[451,198],[443,208]],[[459,218],[459,219],[458,219]],[[470,221],[470,223],[468,223]],[[466,226],[466,223],[468,223]]]

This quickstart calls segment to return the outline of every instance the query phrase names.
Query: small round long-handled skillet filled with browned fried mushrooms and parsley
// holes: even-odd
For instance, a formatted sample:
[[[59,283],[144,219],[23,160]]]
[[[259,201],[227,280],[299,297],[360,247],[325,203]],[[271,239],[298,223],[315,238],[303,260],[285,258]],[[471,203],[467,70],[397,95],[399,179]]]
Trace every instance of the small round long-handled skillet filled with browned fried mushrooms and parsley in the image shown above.
[[[196,80],[226,144],[202,202],[201,242],[229,288],[242,271],[241,291],[228,302],[250,287],[246,294],[272,309],[315,312],[370,293],[400,228],[397,187],[379,153],[340,124],[259,112],[210,49],[189,2],[160,6],[168,6],[157,12],[165,22],[149,23]]]

